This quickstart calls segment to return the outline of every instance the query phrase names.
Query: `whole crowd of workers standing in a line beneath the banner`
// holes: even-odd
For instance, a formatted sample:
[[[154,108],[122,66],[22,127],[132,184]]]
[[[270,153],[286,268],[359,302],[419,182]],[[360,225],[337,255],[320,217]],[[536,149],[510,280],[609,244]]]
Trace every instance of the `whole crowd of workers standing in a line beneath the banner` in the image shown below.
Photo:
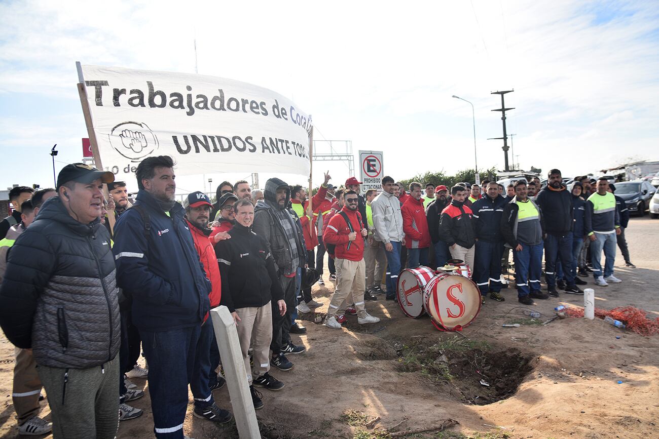
[[[306,350],[291,334],[306,333],[299,313],[322,307],[312,286],[325,285],[326,253],[331,329],[349,315],[378,323],[366,303],[397,300],[405,268],[459,259],[483,303],[503,301],[512,253],[518,300],[533,305],[559,290],[583,294],[588,272],[598,286],[621,282],[616,242],[633,267],[629,215],[614,185],[577,177],[568,190],[558,169],[545,188],[525,179],[404,188],[385,176],[380,191],[361,194],[354,176],[337,187],[326,173],[316,194],[270,178],[262,191],[223,182],[214,201],[198,191],[183,203],[171,157],[148,157],[135,174],[132,204],[126,182],[81,163],[64,167],[56,188],[10,192],[14,211],[0,222],[0,326],[16,346],[20,434],[114,438],[118,421],[142,415],[129,405],[144,396],[134,378],[148,380],[158,438],[185,436],[188,386],[195,417],[231,421],[213,394],[225,384],[209,317],[218,305],[235,321],[252,403],[262,408],[257,388],[285,386],[271,368],[289,371],[288,357]],[[52,423],[39,416],[42,388]]]

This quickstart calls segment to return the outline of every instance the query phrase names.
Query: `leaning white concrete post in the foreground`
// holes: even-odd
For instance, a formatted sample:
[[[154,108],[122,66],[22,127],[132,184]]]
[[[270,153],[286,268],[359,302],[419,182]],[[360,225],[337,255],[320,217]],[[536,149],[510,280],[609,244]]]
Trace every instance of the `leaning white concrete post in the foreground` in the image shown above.
[[[261,433],[258,430],[256,411],[254,411],[252,395],[247,384],[245,363],[243,362],[243,353],[241,353],[241,344],[238,340],[236,323],[233,321],[229,309],[225,306],[211,309],[210,315],[213,319],[215,338],[217,339],[219,356],[222,359],[222,367],[227,379],[238,435],[241,439],[259,439]]]

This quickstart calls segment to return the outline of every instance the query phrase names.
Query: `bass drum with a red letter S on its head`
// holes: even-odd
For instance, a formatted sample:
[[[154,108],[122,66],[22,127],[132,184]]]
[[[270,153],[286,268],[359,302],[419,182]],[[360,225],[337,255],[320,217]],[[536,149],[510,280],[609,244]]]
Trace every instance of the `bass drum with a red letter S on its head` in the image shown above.
[[[426,284],[423,307],[439,330],[461,330],[476,319],[480,292],[465,276],[440,273]]]

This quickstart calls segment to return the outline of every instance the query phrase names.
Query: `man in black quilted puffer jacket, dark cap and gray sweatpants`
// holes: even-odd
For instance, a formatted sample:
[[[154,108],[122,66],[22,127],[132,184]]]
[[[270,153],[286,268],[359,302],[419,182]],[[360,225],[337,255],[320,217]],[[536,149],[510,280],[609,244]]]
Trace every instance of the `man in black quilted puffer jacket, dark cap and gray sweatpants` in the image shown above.
[[[111,172],[76,163],[9,252],[0,325],[32,349],[53,438],[113,438],[119,423],[119,304],[110,237],[100,224]]]

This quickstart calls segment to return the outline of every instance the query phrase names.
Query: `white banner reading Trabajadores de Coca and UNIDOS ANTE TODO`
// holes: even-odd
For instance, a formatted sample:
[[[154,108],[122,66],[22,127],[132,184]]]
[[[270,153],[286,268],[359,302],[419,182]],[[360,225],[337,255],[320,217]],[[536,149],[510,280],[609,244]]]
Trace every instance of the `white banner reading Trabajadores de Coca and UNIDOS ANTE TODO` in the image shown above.
[[[117,180],[170,155],[177,174],[309,175],[311,116],[266,88],[198,74],[78,63],[103,168]]]

